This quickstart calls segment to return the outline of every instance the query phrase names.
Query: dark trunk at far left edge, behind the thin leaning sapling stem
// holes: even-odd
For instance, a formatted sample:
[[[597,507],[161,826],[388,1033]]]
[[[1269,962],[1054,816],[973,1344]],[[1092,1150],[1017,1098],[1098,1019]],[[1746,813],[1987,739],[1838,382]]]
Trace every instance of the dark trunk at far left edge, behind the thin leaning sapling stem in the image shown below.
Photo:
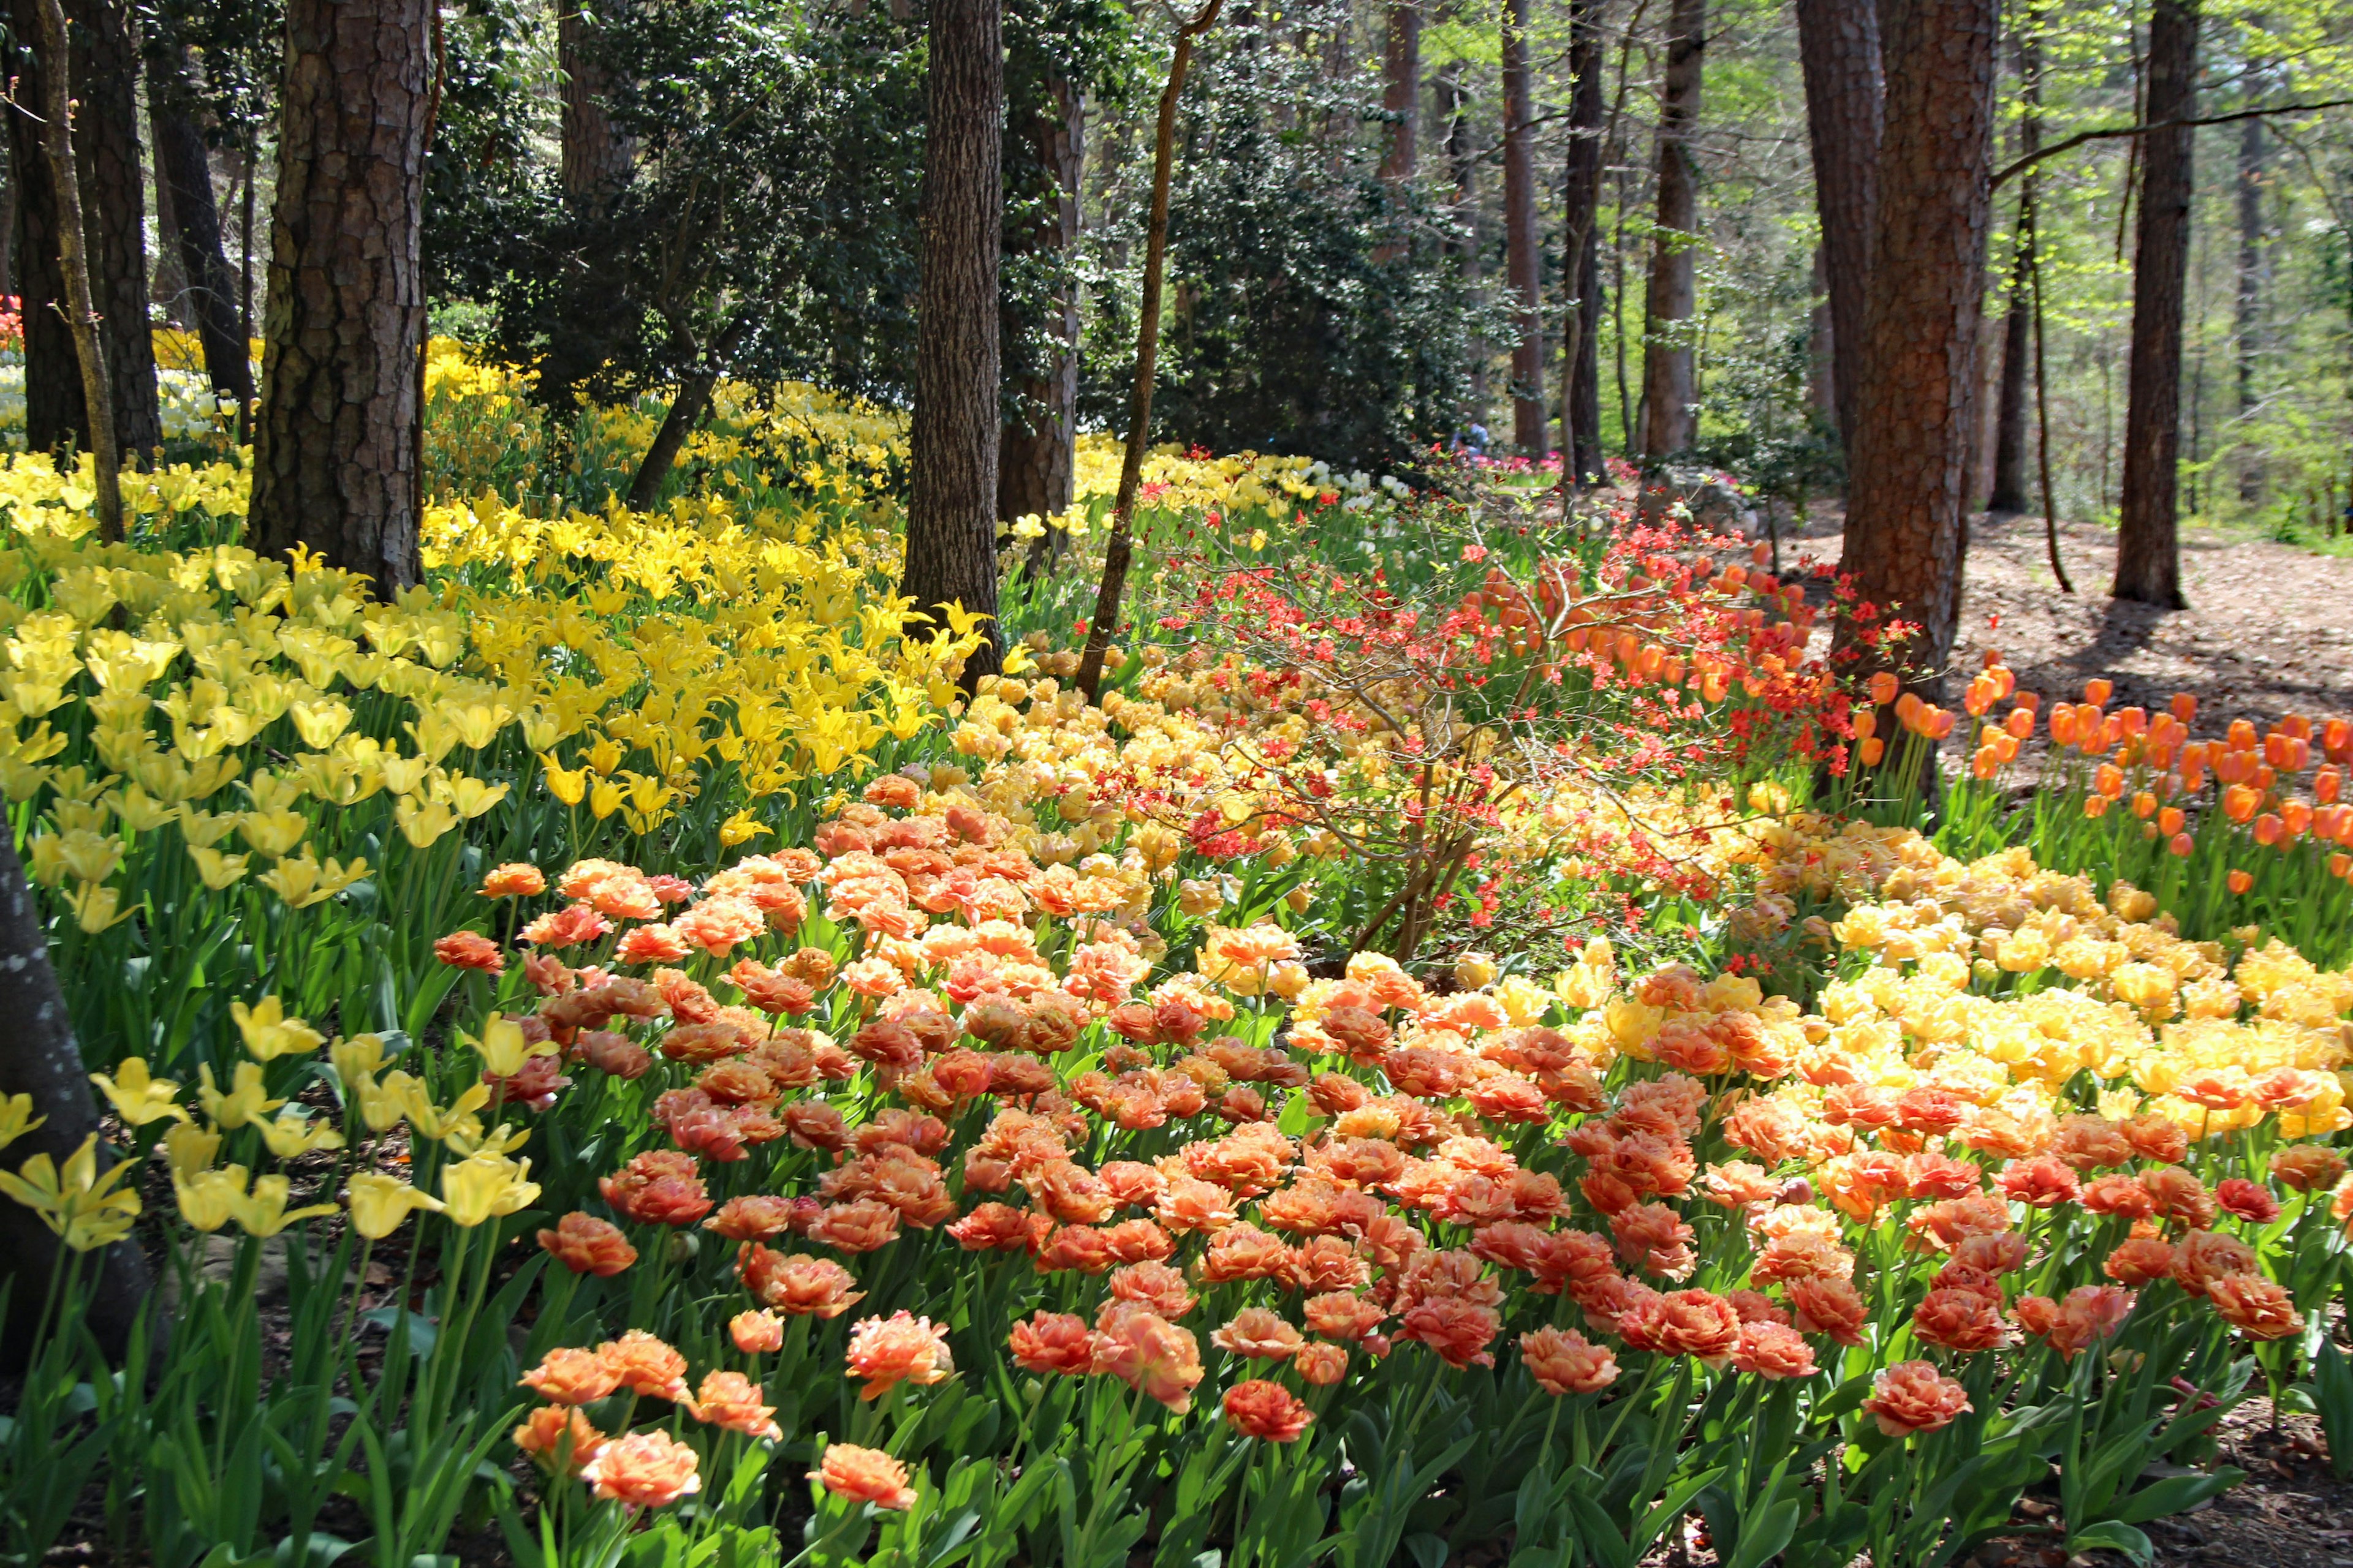
[[[139,52],[125,0],[71,0],[73,162],[80,169],[82,233],[89,292],[99,313],[106,383],[115,409],[115,442],[125,454],[162,444],[155,400],[155,343],[148,336],[146,193],[139,172]],[[40,146],[33,106],[45,101],[40,0],[14,0],[19,40],[9,73],[16,110],[9,113],[9,172],[16,183],[16,273],[24,284],[26,447],[49,451],[87,444],[80,360],[66,327],[66,277],[59,268],[56,186]]]

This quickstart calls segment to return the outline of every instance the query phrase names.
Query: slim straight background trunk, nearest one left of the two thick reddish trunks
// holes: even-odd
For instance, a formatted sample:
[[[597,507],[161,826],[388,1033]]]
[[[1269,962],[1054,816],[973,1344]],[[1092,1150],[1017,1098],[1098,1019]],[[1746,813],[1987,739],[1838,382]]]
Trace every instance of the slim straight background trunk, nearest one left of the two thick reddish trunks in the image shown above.
[[[1708,0],[1675,0],[1668,12],[1666,89],[1659,94],[1659,228],[1649,244],[1649,301],[1642,334],[1642,456],[1661,461],[1699,430],[1692,341],[1685,322],[1697,303],[1699,85],[1708,49]]]

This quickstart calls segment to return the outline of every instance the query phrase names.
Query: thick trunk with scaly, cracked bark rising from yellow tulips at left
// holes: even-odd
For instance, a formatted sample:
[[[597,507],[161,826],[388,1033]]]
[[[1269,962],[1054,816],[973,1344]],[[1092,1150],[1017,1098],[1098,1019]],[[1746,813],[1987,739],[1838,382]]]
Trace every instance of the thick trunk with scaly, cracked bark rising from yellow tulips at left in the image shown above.
[[[292,0],[252,541],[416,583],[426,0]]]

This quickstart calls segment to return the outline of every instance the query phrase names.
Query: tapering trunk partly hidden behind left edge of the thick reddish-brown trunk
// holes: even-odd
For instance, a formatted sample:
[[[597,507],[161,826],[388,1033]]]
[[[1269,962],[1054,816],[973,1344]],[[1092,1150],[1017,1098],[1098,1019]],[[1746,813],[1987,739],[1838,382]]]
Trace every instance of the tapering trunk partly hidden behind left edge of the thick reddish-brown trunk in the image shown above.
[[[1831,388],[1838,437],[1852,458],[1885,113],[1878,0],[1798,0],[1798,61],[1814,146],[1821,270],[1831,292]]]

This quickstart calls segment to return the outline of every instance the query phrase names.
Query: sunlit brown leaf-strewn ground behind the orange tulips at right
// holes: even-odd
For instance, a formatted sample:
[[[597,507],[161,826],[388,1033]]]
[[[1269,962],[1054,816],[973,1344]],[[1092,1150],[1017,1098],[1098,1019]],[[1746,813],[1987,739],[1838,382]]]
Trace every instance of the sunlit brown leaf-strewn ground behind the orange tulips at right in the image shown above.
[[[1784,567],[1800,552],[1835,564],[1840,529],[1835,505],[1814,508],[1812,527],[1784,531]],[[1972,520],[1955,668],[2000,649],[2019,686],[2045,701],[2075,701],[2104,675],[2115,682],[2111,710],[2155,710],[2188,691],[2200,736],[2238,717],[2353,717],[2353,557],[2188,529],[2184,611],[2108,597],[2115,534],[2099,524],[2061,524],[2059,559],[2073,595],[2052,576],[2040,517]]]

